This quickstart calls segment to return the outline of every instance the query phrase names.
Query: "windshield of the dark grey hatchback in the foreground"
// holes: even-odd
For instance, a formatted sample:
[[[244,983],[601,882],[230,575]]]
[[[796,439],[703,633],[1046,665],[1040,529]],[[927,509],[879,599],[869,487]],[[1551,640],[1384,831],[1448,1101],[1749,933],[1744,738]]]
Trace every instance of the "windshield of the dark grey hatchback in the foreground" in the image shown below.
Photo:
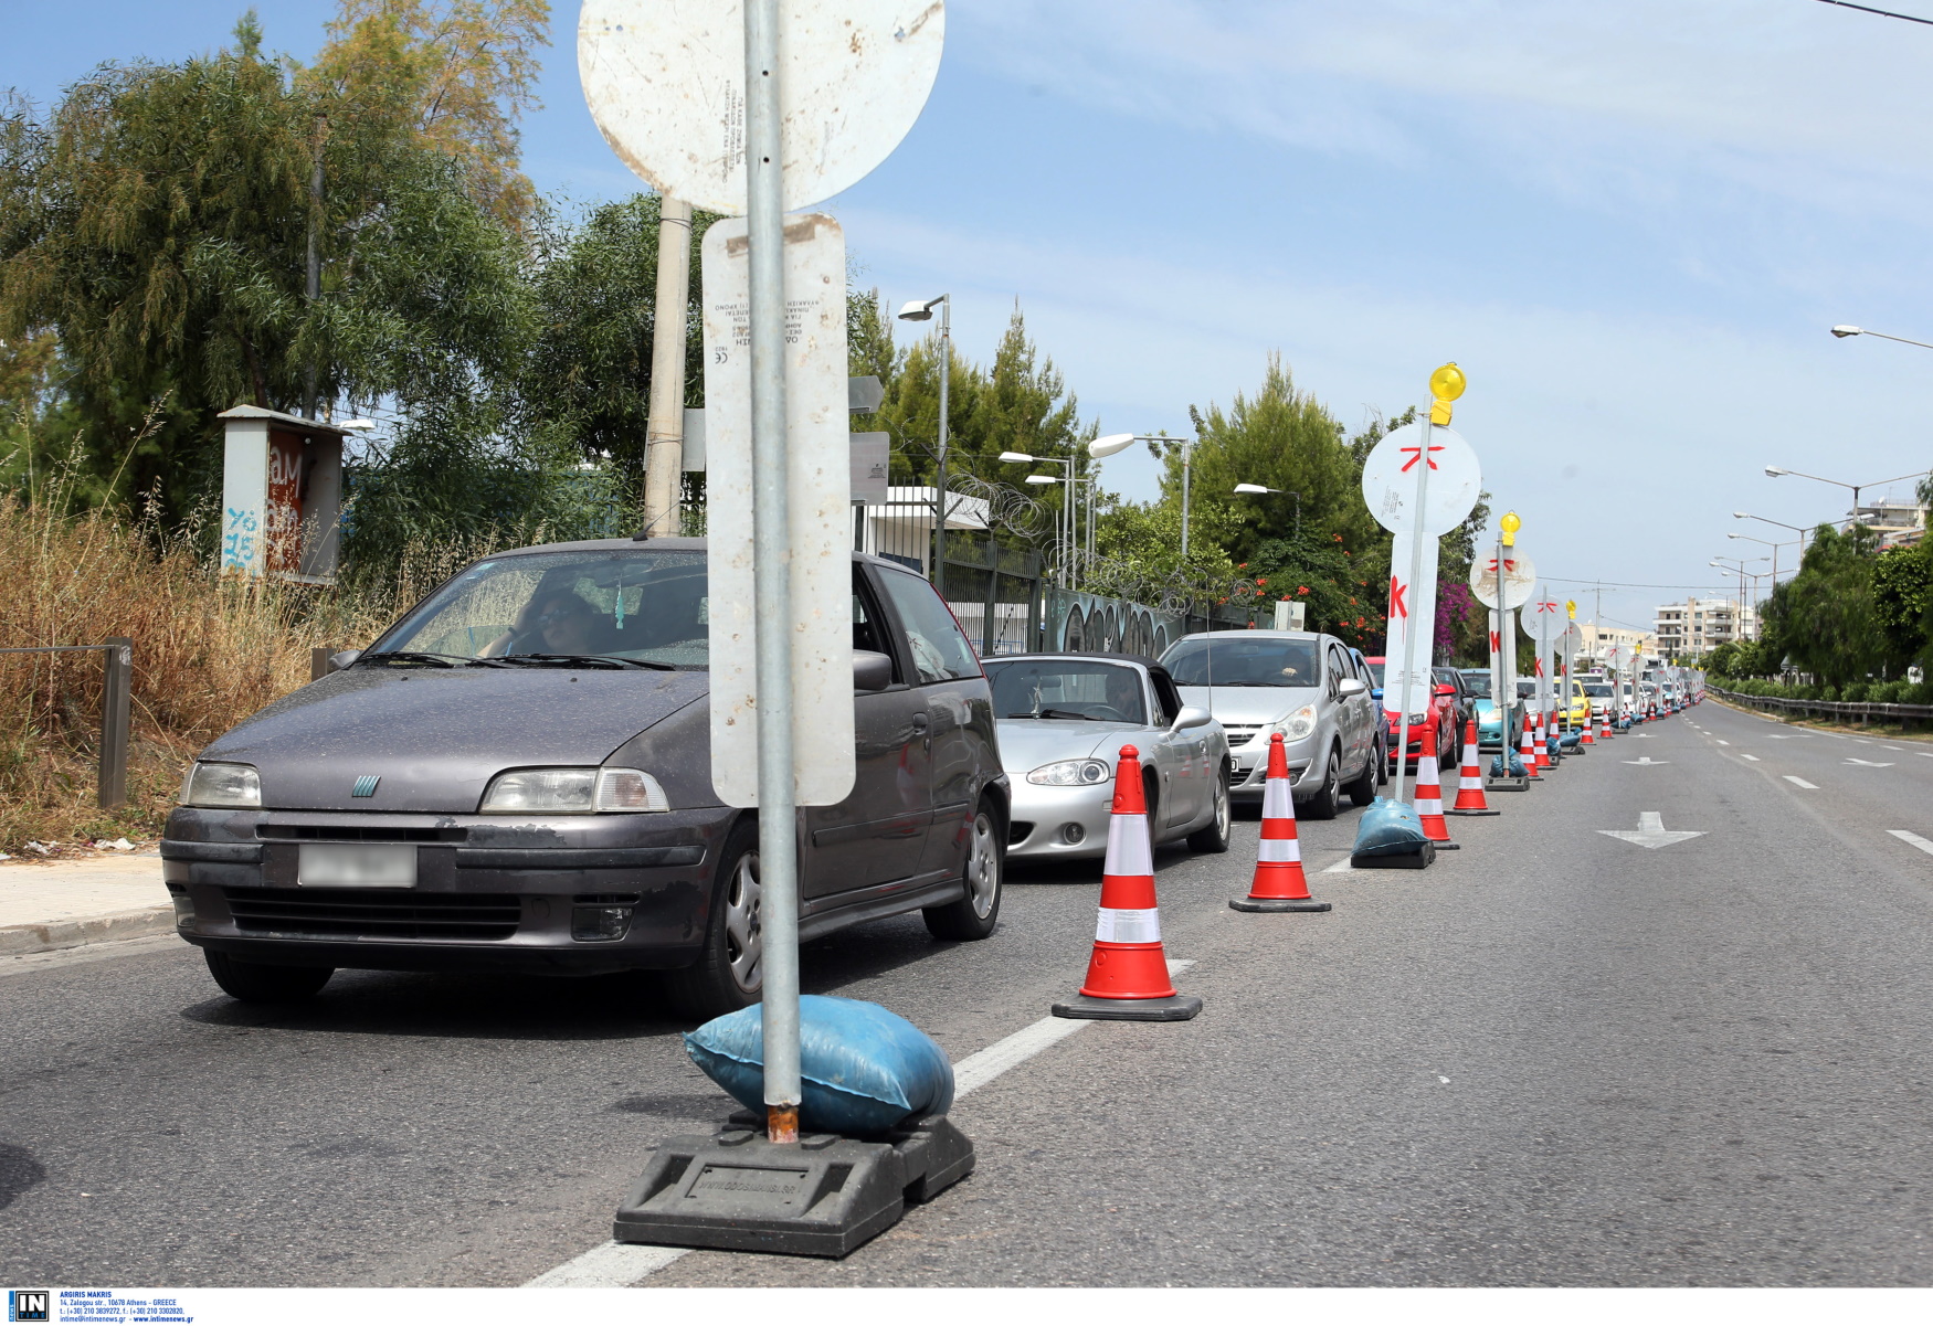
[[[443,667],[709,667],[706,555],[522,553],[456,576],[363,651]]]

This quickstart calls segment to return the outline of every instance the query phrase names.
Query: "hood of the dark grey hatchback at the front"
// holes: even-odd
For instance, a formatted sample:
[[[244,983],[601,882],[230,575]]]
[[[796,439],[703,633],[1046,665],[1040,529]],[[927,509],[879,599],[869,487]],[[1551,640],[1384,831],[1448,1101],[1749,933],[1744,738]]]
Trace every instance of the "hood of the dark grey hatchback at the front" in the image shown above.
[[[709,673],[352,667],[276,700],[203,760],[261,771],[267,810],[476,814],[503,769],[595,765],[704,700]],[[373,796],[350,798],[377,775]]]

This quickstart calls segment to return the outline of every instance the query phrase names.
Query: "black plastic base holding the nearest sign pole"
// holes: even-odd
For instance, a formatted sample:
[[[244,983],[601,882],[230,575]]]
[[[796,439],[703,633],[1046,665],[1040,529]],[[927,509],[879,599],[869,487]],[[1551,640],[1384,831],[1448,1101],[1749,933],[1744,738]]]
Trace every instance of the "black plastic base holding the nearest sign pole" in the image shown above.
[[[619,1206],[619,1243],[845,1256],[972,1173],[972,1142],[945,1115],[880,1140],[802,1133],[765,1140],[764,1119],[731,1117],[713,1137],[667,1139]]]

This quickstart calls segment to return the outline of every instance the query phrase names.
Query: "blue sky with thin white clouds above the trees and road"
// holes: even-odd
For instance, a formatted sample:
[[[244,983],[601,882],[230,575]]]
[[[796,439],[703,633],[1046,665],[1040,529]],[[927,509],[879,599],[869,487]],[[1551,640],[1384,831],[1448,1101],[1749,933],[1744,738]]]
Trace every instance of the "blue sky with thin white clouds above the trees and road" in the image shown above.
[[[1933,0],[1896,8],[1933,15]],[[240,4],[8,0],[0,85],[224,41]],[[259,4],[313,52],[325,0]],[[986,358],[1019,300],[1104,431],[1185,431],[1282,352],[1349,425],[1457,360],[1456,425],[1558,591],[1718,586],[1933,466],[1933,29],[1813,0],[955,0],[901,149],[831,203],[893,303]],[[628,193],[557,10],[539,189]],[[1127,495],[1152,464],[1108,462]],[[1904,495],[1910,485],[1898,485]],[[1794,551],[1780,553],[1792,564]],[[1558,580],[1562,578],[1562,580]],[[1682,597],[1682,591],[1676,591]],[[1651,620],[1672,590],[1606,590]]]

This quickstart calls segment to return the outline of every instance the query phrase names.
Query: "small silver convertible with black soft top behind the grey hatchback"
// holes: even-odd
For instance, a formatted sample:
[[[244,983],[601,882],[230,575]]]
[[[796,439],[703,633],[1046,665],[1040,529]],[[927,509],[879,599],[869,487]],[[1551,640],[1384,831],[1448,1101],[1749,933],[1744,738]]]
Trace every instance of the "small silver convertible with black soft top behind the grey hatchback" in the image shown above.
[[[1100,856],[1121,746],[1140,752],[1156,843],[1229,841],[1227,738],[1158,663],[1127,653],[1017,653],[984,663],[1013,785],[1007,856]]]

